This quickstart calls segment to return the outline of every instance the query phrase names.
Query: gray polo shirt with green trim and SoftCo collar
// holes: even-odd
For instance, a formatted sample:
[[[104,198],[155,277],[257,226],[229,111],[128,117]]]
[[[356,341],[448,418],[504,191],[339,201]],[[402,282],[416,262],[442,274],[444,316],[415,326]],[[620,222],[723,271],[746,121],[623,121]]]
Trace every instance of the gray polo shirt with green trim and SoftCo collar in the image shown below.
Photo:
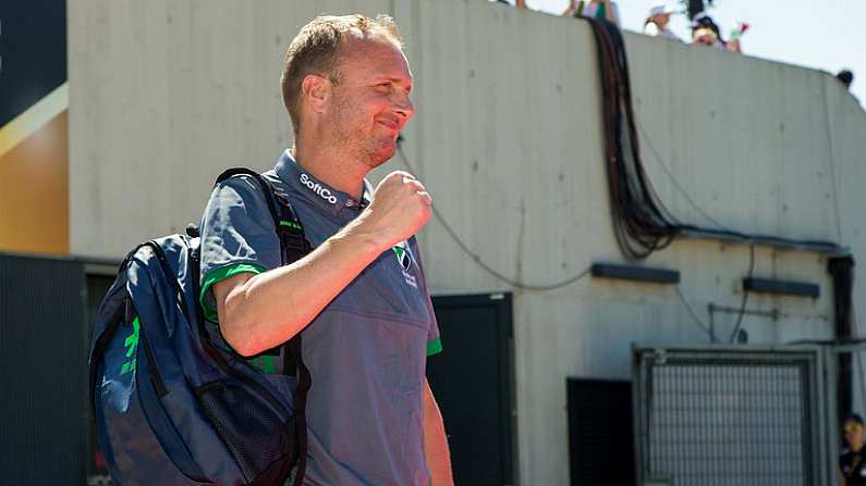
[[[309,242],[317,247],[355,219],[355,201],[304,171],[289,151],[265,176],[281,185]],[[214,189],[202,222],[202,304],[216,322],[211,287],[237,273],[280,264],[280,244],[265,197],[248,176]],[[309,291],[316,291],[310,288]],[[309,457],[305,485],[424,485],[422,385],[439,329],[415,238],[383,252],[303,331],[313,377],[306,406]],[[255,361],[266,373],[278,358]],[[291,396],[294,381],[271,381]]]

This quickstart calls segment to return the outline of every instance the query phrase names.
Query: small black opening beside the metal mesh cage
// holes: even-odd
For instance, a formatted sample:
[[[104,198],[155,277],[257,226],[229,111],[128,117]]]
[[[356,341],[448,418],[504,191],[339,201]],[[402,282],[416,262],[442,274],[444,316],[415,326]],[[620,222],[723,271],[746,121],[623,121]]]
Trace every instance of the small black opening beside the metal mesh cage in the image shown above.
[[[572,486],[633,485],[632,384],[566,382]]]

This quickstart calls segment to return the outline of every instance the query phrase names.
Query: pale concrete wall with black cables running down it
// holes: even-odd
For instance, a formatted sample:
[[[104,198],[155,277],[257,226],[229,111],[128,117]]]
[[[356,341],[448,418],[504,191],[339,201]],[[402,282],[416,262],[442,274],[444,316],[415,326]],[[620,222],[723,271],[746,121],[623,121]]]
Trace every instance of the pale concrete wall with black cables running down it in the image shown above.
[[[119,257],[196,221],[222,169],[269,167],[290,144],[278,84],[285,46],[315,14],[355,11],[400,23],[416,78],[406,154],[483,262],[550,284],[622,261],[589,27],[481,0],[73,2],[72,253]],[[713,224],[691,199],[725,227],[866,256],[866,114],[835,79],[638,35],[626,43],[646,170],[676,216]],[[589,277],[526,291],[484,271],[437,220],[422,244],[437,292],[514,292],[523,485],[568,483],[566,376],[629,378],[633,341],[706,342],[682,300],[704,324],[709,302],[737,307],[749,262],[745,246],[681,240],[646,263],[682,272],[682,300],[671,287]],[[746,317],[752,342],[832,336],[822,256],[758,247],[755,275],[818,283],[821,297],[749,297],[749,309],[783,312]],[[861,314],[865,292],[856,288]],[[717,314],[718,334],[734,321]]]

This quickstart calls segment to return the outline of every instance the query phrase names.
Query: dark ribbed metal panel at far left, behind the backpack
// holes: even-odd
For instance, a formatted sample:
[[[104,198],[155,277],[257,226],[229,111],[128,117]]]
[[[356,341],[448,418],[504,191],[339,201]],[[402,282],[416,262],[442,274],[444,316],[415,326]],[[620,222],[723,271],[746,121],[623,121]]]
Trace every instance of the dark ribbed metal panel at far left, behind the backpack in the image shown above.
[[[0,483],[80,485],[84,265],[0,254]]]

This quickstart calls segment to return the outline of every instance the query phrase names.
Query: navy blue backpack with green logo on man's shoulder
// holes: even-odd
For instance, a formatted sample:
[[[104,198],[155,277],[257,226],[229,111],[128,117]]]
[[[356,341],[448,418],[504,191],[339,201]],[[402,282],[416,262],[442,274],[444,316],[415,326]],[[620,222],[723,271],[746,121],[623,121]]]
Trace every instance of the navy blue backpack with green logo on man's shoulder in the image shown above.
[[[258,182],[279,235],[282,264],[309,252],[284,192]],[[89,394],[113,481],[130,485],[283,485],[306,468],[306,395],[312,381],[301,333],[285,342],[294,400],[233,352],[198,304],[199,238],[171,235],[136,246],[97,312]],[[281,378],[284,379],[284,376]],[[295,382],[293,382],[295,383]],[[292,402],[294,401],[294,402]]]

